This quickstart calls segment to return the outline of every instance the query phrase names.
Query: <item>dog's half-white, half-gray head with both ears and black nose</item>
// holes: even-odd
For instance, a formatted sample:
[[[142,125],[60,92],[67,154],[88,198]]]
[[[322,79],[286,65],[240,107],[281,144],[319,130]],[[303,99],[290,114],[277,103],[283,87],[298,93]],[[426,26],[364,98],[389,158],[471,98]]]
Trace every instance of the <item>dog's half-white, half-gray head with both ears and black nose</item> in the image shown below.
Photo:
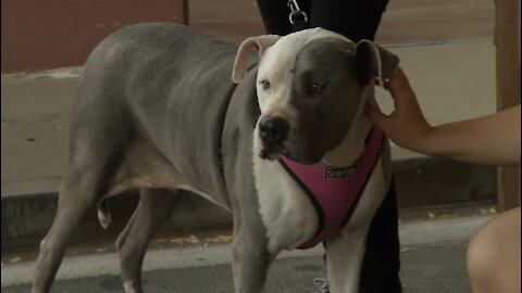
[[[262,158],[279,154],[313,164],[346,137],[375,78],[385,78],[398,58],[375,43],[353,43],[321,28],[285,37],[259,36],[239,47],[233,80],[247,72],[247,55],[257,50],[257,93],[261,116],[256,151]]]

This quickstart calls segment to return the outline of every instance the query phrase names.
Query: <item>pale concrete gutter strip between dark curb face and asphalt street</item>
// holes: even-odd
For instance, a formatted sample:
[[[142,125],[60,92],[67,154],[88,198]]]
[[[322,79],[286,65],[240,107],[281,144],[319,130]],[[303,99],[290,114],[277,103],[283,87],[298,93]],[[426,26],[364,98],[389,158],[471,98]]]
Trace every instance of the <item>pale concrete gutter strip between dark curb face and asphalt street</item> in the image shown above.
[[[488,216],[468,216],[449,219],[420,220],[401,222],[399,235],[402,252],[419,250],[423,246],[448,245],[467,242]],[[451,229],[448,229],[451,227]],[[285,251],[277,259],[288,257],[319,257],[324,254],[322,245],[311,250]],[[229,244],[203,243],[175,246],[162,250],[149,250],[142,271],[172,268],[215,266],[231,263]],[[2,288],[30,282],[33,262],[7,264],[2,267]],[[120,267],[116,253],[87,254],[65,257],[57,280],[80,279],[99,276],[117,276]]]

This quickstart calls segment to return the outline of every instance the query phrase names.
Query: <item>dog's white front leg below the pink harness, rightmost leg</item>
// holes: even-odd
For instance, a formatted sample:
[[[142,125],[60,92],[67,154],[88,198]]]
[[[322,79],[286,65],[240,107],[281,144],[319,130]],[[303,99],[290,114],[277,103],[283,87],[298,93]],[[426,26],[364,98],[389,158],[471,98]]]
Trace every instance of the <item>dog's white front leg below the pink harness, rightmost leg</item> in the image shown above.
[[[341,233],[325,243],[326,272],[332,293],[359,293],[365,235],[365,231]]]

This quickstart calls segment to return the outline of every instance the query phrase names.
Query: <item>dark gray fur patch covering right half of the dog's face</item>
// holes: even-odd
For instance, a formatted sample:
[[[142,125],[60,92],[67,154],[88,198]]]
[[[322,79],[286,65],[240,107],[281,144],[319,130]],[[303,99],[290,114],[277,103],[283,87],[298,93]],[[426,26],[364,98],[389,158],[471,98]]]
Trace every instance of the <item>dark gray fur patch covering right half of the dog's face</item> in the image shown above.
[[[334,38],[313,40],[297,55],[290,103],[299,114],[289,158],[315,163],[346,137],[365,88],[355,78],[353,59],[355,46]],[[311,85],[321,91],[310,92]]]

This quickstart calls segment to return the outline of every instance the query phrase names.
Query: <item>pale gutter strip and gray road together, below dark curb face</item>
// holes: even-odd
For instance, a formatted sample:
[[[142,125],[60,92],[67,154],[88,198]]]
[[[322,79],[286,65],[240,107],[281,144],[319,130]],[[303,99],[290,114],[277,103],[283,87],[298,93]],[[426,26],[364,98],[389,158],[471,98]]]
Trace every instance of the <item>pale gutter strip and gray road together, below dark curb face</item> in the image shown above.
[[[405,292],[470,292],[465,243],[490,215],[402,221],[401,279]],[[451,229],[448,229],[451,227]],[[428,235],[426,238],[426,235]],[[321,245],[279,255],[269,273],[266,292],[314,292],[324,278]],[[149,292],[232,292],[229,244],[195,241],[148,252],[144,284]],[[2,292],[27,292],[33,262],[2,263]],[[65,257],[53,292],[117,292],[122,285],[117,255],[98,253]]]

